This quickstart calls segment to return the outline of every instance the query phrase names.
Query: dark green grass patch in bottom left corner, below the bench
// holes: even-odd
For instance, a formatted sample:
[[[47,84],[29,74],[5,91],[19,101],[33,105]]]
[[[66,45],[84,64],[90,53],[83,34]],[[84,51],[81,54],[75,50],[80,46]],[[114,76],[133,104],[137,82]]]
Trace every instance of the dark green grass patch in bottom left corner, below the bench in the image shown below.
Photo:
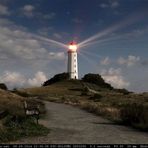
[[[45,136],[49,133],[49,129],[36,124],[32,117],[7,116],[2,122],[0,143],[18,140],[23,137]]]

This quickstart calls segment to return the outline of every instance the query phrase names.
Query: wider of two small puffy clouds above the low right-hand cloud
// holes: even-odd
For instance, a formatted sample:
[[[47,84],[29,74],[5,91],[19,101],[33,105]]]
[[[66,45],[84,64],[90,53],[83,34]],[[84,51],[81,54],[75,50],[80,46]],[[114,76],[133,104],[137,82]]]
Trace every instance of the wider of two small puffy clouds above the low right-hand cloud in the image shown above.
[[[120,65],[126,65],[127,67],[131,67],[131,66],[136,65],[139,61],[140,61],[139,56],[136,57],[133,55],[129,55],[127,59],[120,57],[117,62]]]

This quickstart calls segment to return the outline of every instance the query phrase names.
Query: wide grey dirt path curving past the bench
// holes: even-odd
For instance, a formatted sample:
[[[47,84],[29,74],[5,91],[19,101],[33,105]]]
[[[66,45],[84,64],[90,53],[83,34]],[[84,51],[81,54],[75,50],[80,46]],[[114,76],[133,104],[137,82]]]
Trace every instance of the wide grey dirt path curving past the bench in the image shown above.
[[[81,109],[46,102],[47,118],[41,124],[51,129],[46,137],[21,139],[13,143],[147,143],[148,133],[115,125]]]

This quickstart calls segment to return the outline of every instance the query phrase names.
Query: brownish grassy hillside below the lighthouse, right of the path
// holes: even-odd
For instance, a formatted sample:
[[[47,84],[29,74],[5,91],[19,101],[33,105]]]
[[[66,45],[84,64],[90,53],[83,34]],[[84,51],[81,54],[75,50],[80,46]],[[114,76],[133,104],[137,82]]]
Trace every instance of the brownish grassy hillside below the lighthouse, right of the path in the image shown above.
[[[89,91],[89,89],[94,91]],[[63,81],[46,87],[20,90],[40,99],[79,106],[114,122],[148,129],[148,93],[109,90],[82,81]],[[42,97],[41,97],[42,96]]]

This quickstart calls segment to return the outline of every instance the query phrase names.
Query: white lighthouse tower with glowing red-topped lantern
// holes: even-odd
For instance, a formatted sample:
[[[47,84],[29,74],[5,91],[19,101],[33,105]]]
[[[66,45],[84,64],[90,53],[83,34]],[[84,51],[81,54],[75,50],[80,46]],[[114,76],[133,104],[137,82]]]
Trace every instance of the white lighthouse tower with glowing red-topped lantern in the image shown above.
[[[68,48],[68,73],[70,79],[78,79],[77,45],[74,42]]]

